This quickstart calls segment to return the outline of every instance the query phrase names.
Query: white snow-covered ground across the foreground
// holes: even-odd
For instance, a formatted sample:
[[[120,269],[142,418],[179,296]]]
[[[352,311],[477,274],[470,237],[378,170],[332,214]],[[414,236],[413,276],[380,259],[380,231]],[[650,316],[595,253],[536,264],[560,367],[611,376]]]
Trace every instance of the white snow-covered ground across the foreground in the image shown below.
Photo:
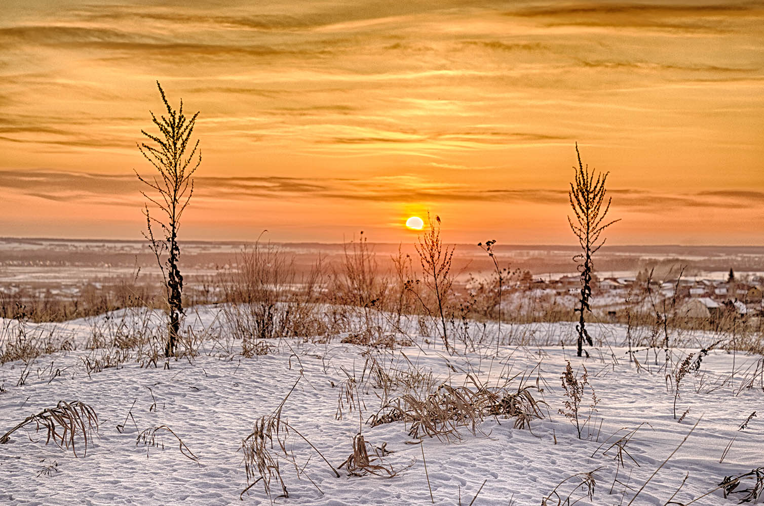
[[[762,356],[715,349],[694,370],[701,346],[724,337],[685,332],[668,365],[656,349],[640,348],[630,362],[618,325],[592,327],[591,358],[576,358],[570,323],[503,325],[498,346],[484,338],[458,343],[456,353],[437,337],[412,333],[409,346],[390,349],[342,343],[343,334],[269,340],[259,348],[267,353],[247,358],[218,309],[190,313],[199,354],[169,369],[163,359],[154,366],[143,345],[89,349],[129,334],[115,324],[124,313],[28,324],[25,336],[53,336],[72,350],[0,366],[0,437],[59,401],[92,408],[99,428],[87,445],[76,434],[76,455],[46,444],[34,421],[11,433],[0,445],[0,503],[700,506],[739,504],[748,492],[724,498],[720,483],[764,466]],[[8,346],[18,323],[3,326]],[[570,412],[561,380],[568,360],[583,394],[580,437],[575,416],[561,413]],[[437,409],[454,417],[433,421]],[[474,411],[460,418],[459,409]],[[270,498],[257,469],[245,470],[254,447],[242,443],[258,421],[279,429],[260,456],[278,462],[288,497],[273,469]],[[152,441],[143,431],[156,427],[172,433],[160,428]],[[359,452],[341,467],[359,432],[370,466]],[[762,503],[762,479],[742,479],[736,491],[759,486],[749,502]]]

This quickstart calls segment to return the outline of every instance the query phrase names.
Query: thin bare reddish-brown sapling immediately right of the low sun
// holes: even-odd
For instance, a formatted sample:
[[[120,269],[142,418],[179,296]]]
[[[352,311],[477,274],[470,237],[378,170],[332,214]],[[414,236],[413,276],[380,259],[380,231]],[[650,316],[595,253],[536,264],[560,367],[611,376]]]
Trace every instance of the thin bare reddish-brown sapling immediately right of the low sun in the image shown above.
[[[450,353],[453,349],[448,343],[445,305],[452,292],[451,260],[454,256],[454,247],[445,246],[440,238],[439,216],[435,216],[437,225],[429,218],[429,213],[427,213],[427,221],[429,221],[429,230],[422,237],[419,237],[419,244],[414,246],[422,263],[424,283],[432,291],[438,305],[443,344]]]

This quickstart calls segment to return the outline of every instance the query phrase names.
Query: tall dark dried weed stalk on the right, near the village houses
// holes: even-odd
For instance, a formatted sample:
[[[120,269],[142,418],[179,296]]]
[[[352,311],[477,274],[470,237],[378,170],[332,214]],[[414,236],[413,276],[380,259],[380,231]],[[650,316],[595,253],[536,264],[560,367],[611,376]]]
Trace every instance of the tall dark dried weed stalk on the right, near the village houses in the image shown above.
[[[591,257],[605,243],[604,237],[600,240],[602,232],[619,220],[605,221],[607,211],[610,211],[610,197],[607,198],[607,205],[605,205],[604,210],[602,208],[607,192],[605,181],[610,172],[604,174],[600,172],[596,174],[595,179],[594,169],[589,172],[589,166],[584,168],[581,163],[578,143],[575,145],[575,153],[578,156],[578,169],[573,167],[575,171],[574,182],[571,182],[571,189],[568,192],[571,208],[575,214],[575,222],[568,216],[568,224],[570,224],[575,237],[578,238],[582,250],[581,253],[573,257],[578,263],[578,272],[581,272],[581,298],[578,299],[579,307],[574,308],[574,311],[578,313],[578,325],[575,327],[578,331],[577,355],[581,356],[582,351],[584,351],[584,341],[589,346],[594,345],[586,330],[584,318],[586,311],[591,312],[589,299],[591,298],[591,275],[594,272],[594,261]],[[586,356],[589,356],[588,352],[586,352]]]

